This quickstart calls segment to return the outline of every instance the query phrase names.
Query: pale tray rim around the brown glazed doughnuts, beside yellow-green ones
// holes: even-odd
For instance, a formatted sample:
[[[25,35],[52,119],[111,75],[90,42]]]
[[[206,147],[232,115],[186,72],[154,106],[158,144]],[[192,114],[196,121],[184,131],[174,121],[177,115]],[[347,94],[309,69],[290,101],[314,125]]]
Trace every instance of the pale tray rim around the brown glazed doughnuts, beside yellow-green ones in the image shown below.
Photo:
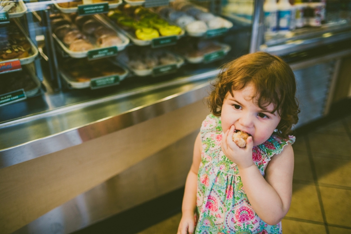
[[[124,36],[118,29],[116,29],[114,26],[112,26],[110,23],[108,23],[106,20],[101,18],[99,15],[94,15],[91,16],[95,20],[98,20],[100,23],[102,23],[104,26],[109,27],[117,32],[117,35],[120,39],[122,39],[122,44],[117,45],[117,50],[121,51],[124,50],[124,48],[129,44],[129,39]],[[87,51],[72,51],[69,48],[66,47],[66,45],[53,33],[53,38],[59,43],[60,47],[63,49],[64,52],[66,52],[70,57],[72,58],[85,58],[88,56],[88,52],[92,50],[97,50],[97,49],[103,49],[103,48],[109,48],[109,47],[96,47],[92,50],[87,50]]]

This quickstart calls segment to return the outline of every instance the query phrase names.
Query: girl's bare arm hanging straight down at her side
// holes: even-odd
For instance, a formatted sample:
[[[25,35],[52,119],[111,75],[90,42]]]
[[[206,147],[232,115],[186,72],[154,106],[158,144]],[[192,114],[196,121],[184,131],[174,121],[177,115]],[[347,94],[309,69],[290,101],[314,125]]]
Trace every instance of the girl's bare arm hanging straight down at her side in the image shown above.
[[[185,182],[185,191],[182,204],[182,218],[179,223],[177,234],[195,232],[195,208],[197,190],[197,172],[201,162],[201,138],[197,135],[194,145],[193,163]]]

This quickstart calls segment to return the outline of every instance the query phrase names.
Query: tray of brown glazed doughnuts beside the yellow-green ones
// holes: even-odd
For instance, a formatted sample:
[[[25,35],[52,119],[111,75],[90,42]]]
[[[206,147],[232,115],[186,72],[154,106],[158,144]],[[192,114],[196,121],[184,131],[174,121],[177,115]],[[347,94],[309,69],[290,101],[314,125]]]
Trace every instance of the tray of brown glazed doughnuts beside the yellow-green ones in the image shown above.
[[[84,58],[91,50],[107,47],[116,47],[120,51],[129,44],[127,37],[98,15],[55,14],[50,18],[53,37],[73,58]]]

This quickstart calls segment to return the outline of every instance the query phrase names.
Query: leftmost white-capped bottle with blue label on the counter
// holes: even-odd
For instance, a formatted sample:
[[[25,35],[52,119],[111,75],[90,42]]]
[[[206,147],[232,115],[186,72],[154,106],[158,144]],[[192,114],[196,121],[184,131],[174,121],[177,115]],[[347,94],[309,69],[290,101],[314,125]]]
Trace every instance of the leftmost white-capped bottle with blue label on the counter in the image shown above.
[[[276,0],[266,0],[263,5],[265,31],[269,35],[278,32],[278,5]]]

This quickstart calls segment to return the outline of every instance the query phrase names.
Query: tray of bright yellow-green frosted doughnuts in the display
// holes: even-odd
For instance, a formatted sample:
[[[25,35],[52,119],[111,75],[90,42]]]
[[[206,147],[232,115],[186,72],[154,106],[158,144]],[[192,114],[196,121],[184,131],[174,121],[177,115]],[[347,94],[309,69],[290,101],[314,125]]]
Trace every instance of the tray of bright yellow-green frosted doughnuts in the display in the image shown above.
[[[182,28],[142,6],[121,5],[107,16],[137,45],[148,45],[151,40],[162,37],[184,35]]]

